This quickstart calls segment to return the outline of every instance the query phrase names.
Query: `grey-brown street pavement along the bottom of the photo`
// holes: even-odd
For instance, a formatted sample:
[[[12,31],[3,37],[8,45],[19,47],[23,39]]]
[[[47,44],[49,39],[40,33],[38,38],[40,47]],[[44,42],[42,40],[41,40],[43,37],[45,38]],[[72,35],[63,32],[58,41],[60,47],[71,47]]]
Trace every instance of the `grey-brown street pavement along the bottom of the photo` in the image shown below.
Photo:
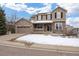
[[[0,56],[79,56],[79,54],[0,45]]]

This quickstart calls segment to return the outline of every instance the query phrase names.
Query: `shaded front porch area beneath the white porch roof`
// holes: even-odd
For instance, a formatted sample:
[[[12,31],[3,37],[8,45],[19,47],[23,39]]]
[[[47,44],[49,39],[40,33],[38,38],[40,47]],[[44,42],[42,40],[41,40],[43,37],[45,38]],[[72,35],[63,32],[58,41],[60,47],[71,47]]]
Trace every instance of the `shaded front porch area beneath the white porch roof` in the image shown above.
[[[36,33],[47,33],[52,32],[52,23],[37,23],[33,24],[34,32]]]

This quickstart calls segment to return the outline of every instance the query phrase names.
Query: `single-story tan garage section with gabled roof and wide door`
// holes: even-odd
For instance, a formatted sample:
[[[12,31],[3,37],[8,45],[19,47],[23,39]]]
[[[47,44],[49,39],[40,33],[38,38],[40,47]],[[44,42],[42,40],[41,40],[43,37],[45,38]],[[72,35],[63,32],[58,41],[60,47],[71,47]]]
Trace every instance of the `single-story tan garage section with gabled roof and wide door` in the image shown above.
[[[33,26],[32,23],[26,19],[20,19],[15,23],[15,32],[16,33],[32,33]]]

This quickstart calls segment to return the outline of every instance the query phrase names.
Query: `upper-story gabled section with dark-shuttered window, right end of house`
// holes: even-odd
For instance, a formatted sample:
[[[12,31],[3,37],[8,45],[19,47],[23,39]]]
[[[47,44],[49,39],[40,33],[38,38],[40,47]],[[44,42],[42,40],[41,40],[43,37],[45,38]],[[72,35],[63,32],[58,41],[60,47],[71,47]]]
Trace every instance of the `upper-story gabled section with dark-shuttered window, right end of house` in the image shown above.
[[[57,7],[55,10],[53,10],[52,15],[54,19],[66,19],[66,12],[67,10],[61,8],[61,7]]]

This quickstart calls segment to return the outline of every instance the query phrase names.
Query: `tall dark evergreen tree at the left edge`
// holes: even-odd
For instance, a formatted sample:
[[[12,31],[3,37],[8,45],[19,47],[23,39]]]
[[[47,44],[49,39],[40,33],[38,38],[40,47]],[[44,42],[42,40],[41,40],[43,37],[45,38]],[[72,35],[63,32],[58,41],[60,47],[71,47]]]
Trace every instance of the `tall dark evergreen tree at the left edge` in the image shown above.
[[[6,18],[4,10],[0,7],[0,35],[6,34]]]

